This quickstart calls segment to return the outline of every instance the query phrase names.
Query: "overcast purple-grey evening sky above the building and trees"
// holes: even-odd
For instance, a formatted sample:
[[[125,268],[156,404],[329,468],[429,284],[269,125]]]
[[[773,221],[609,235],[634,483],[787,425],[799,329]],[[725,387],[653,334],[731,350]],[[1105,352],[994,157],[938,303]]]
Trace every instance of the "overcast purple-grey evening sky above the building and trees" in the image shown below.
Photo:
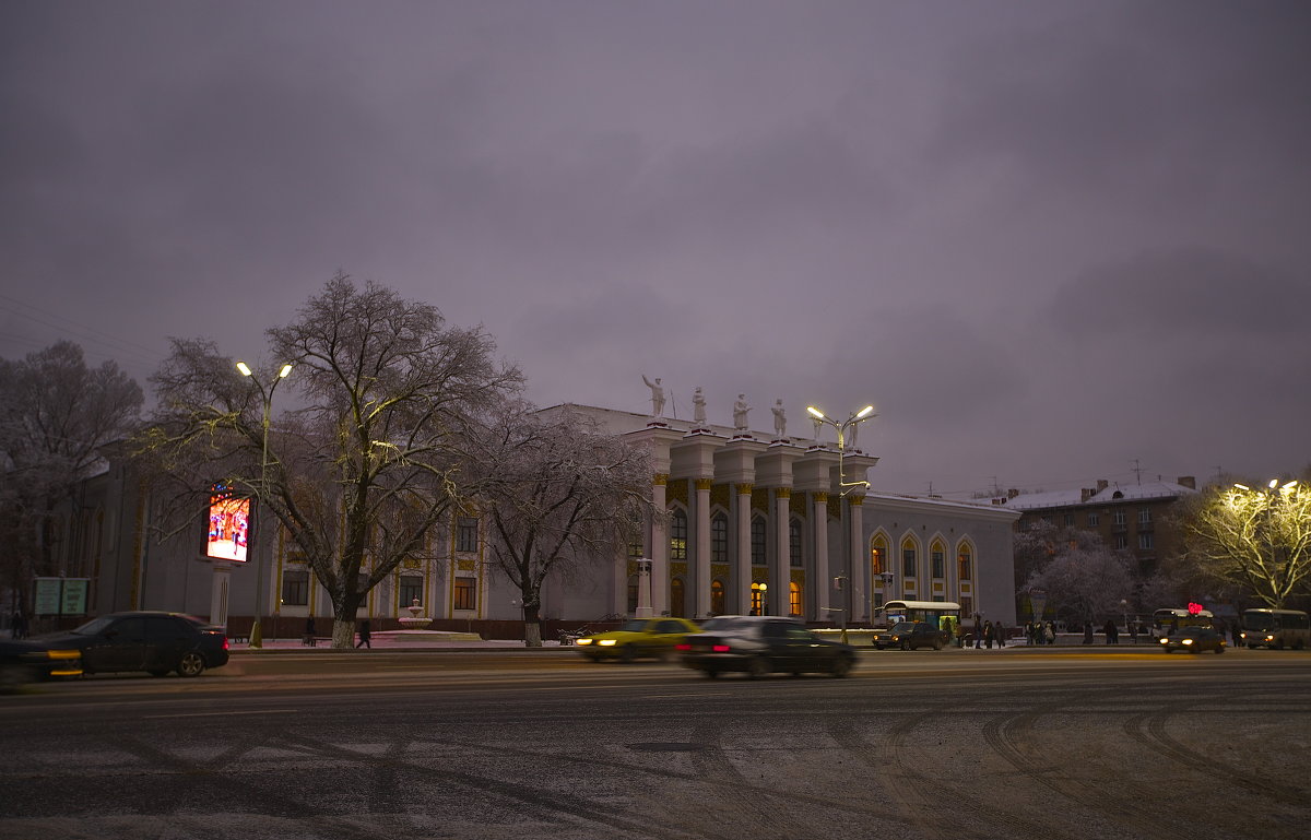
[[[0,356],[260,358],[341,269],[539,405],[873,402],[876,489],[1301,470],[1308,43],[1293,0],[7,0]]]

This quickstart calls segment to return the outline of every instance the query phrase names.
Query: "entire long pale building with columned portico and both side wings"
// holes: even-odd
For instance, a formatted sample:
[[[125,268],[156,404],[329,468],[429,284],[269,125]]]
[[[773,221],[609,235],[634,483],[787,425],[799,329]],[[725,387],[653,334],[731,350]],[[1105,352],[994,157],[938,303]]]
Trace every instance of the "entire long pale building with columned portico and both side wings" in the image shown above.
[[[565,406],[545,409],[561,410]],[[860,484],[877,457],[818,439],[568,406],[603,430],[648,447],[650,493],[666,516],[640,545],[552,577],[541,616],[582,622],[632,616],[649,563],[652,615],[797,616],[812,624],[881,622],[893,598],[943,600],[1013,622],[1009,507],[872,493]],[[745,413],[743,413],[745,414]],[[279,528],[252,515],[248,560],[206,554],[207,524],[164,537],[159,503],[128,461],[111,461],[83,487],[56,550],[60,574],[90,579],[89,615],[169,609],[208,617],[244,636],[258,612],[265,637],[299,636],[332,615],[319,584]],[[261,527],[262,524],[262,527]],[[418,604],[434,626],[510,638],[522,632],[518,592],[489,560],[477,511],[435,529],[370,591],[359,609],[375,629]],[[326,626],[323,628],[326,630]]]

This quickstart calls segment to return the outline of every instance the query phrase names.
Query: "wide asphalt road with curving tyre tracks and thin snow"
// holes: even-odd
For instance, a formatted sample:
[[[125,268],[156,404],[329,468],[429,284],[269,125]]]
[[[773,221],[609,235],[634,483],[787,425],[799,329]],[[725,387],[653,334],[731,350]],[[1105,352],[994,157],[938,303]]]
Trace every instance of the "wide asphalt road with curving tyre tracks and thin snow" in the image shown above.
[[[1311,654],[236,657],[0,697],[0,837],[1301,837]]]

